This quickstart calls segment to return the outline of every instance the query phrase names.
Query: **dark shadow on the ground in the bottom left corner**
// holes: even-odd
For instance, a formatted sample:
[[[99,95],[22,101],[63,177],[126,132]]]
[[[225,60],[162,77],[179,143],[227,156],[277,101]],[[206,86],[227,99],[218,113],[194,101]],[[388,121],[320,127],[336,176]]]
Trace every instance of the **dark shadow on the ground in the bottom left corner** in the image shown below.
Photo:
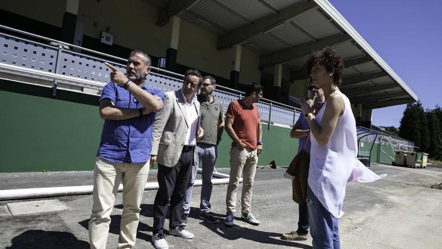
[[[29,230],[22,234],[15,236],[12,240],[12,245],[5,247],[6,249],[86,249],[89,248],[89,243],[83,240],[78,240],[72,233],[69,232],[55,232],[43,230]]]

